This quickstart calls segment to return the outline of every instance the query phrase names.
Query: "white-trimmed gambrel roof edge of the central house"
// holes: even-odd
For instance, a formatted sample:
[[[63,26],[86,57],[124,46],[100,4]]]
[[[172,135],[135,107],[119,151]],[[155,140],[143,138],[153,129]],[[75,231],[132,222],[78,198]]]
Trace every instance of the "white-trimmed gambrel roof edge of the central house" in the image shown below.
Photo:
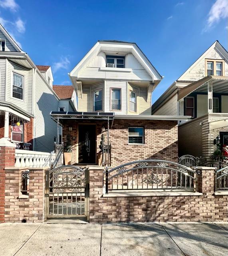
[[[93,48],[82,58],[82,60],[75,66],[75,68],[69,73],[69,76],[76,77],[79,74],[79,71],[83,66],[95,55],[98,54],[102,47],[105,46],[109,47],[117,47],[122,48],[123,50],[127,52],[131,52],[135,58],[140,62],[140,64],[145,68],[145,70],[148,72],[148,74],[151,76],[152,80],[161,80],[162,76],[159,74],[159,72],[155,69],[155,67],[151,64],[151,62],[148,60],[148,58],[145,56],[145,54],[141,51],[141,49],[137,46],[135,43],[129,43],[129,42],[123,42],[123,41],[117,41],[117,40],[102,40],[98,41]]]

